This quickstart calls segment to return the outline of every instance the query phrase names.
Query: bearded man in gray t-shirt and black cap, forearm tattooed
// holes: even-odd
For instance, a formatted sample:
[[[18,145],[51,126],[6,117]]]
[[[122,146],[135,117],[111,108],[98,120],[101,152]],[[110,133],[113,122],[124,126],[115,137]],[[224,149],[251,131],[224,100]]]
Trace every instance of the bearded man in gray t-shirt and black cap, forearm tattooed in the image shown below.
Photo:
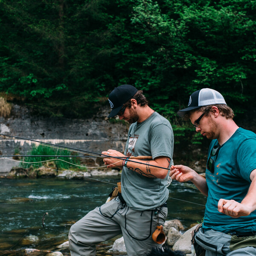
[[[108,117],[118,115],[119,119],[132,124],[124,154],[113,149],[102,152],[109,156],[103,159],[108,168],[122,169],[122,197],[97,207],[71,227],[71,256],[95,256],[96,244],[121,233],[128,256],[143,256],[153,246],[161,246],[151,236],[157,224],[163,225],[167,216],[168,169],[174,140],[172,126],[148,106],[142,91],[131,85],[116,87],[109,95],[109,103],[112,111]],[[112,158],[125,156],[150,156],[152,159],[131,162]]]

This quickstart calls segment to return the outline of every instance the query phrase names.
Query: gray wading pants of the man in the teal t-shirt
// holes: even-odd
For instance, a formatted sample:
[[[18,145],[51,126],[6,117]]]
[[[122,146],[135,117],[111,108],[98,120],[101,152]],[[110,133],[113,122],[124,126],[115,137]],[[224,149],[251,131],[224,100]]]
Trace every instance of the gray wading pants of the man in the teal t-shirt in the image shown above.
[[[237,237],[200,228],[195,240],[206,249],[205,256],[256,256],[256,236]]]

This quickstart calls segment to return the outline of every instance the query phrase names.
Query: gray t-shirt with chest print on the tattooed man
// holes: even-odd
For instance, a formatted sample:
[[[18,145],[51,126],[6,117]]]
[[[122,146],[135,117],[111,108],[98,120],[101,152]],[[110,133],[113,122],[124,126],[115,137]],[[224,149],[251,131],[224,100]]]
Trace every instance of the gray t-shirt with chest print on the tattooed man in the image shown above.
[[[173,131],[170,122],[154,112],[145,121],[131,124],[125,145],[127,156],[169,157],[172,162]],[[138,166],[140,168],[140,166]],[[150,167],[153,168],[153,167]],[[123,167],[122,196],[127,205],[136,210],[155,209],[164,204],[169,196],[165,179],[145,177]]]

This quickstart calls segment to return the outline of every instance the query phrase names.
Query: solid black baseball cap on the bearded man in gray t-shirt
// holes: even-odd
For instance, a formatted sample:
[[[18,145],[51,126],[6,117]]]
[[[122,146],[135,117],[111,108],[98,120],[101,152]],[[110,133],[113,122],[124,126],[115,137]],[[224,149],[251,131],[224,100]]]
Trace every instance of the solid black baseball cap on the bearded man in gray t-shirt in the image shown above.
[[[108,118],[116,116],[125,102],[128,102],[137,91],[138,90],[130,84],[122,84],[119,87],[114,88],[108,96],[108,102],[112,108]]]

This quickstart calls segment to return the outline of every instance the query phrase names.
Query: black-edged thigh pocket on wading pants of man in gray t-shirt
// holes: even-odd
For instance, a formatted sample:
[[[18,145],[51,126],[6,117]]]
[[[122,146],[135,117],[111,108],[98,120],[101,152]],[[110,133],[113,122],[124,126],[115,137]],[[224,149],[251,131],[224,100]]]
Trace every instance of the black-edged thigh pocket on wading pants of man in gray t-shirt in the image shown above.
[[[125,230],[132,239],[144,241],[151,237],[153,212],[128,209],[125,214]]]

